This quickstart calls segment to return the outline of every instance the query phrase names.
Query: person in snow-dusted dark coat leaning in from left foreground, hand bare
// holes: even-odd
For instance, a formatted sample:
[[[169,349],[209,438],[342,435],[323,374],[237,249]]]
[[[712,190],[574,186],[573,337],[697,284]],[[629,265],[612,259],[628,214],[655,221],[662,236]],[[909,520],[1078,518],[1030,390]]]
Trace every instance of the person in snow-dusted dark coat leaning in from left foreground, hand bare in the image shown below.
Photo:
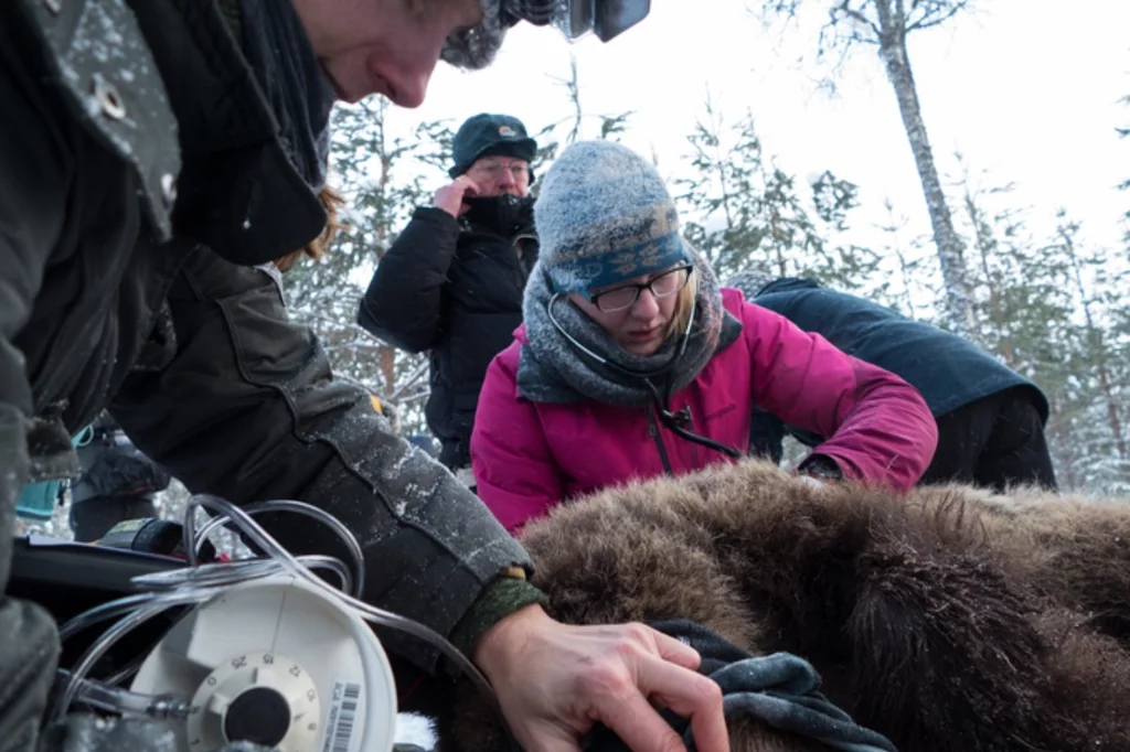
[[[298,498],[339,517],[365,542],[364,597],[467,652],[523,747],[577,749],[602,722],[633,749],[681,749],[658,705],[721,752],[719,689],[695,673],[698,655],[641,626],[553,621],[522,578],[525,552],[333,377],[269,263],[325,224],[332,103],[380,93],[416,106],[441,55],[487,64],[516,16],[484,5],[0,3],[0,587],[19,489],[72,476],[70,438],[108,403],[194,492]],[[308,527],[270,532],[336,553]],[[11,597],[0,635],[0,745],[23,752],[59,638]],[[433,653],[385,646],[398,677],[416,665],[444,681]]]

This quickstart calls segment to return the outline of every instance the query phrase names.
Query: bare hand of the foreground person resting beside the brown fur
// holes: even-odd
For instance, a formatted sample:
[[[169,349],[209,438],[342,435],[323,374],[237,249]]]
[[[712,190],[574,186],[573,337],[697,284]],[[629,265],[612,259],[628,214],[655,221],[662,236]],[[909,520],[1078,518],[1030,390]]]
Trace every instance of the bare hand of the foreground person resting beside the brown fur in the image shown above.
[[[699,752],[728,752],[722,692],[694,648],[643,624],[574,627],[528,606],[490,628],[475,662],[529,752],[577,752],[600,722],[634,752],[685,752],[655,707],[690,718]]]

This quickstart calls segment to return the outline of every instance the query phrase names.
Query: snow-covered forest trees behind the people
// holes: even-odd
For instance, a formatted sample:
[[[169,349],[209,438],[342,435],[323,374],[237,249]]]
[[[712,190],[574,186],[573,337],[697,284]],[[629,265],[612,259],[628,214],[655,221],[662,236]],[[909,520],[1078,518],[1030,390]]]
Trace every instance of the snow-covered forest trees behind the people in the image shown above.
[[[802,0],[765,0],[751,12],[766,24],[796,14]],[[802,177],[777,166],[753,110],[725,111],[706,93],[686,133],[685,155],[657,165],[678,195],[686,237],[721,278],[757,268],[801,274],[889,305],[968,336],[1033,379],[1051,402],[1049,441],[1064,490],[1130,492],[1130,191],[1121,244],[1085,239],[1080,221],[1055,206],[1026,206],[1008,175],[993,175],[962,155],[944,155],[942,172],[929,140],[912,71],[914,35],[950,23],[966,2],[835,3],[822,29],[825,58],[877,55],[898,104],[905,140],[892,160],[916,169],[922,192],[881,207],[886,221],[861,224],[851,175],[825,170]],[[534,170],[577,138],[620,139],[637,125],[632,112],[590,113],[576,65],[547,81],[572,115],[528,122],[541,146]],[[1130,86],[1128,86],[1130,89]],[[473,113],[468,113],[468,115]],[[339,107],[334,115],[334,184],[348,200],[348,228],[322,262],[286,276],[293,315],[323,338],[336,368],[395,406],[406,435],[426,432],[427,358],[388,347],[355,323],[372,271],[412,208],[428,203],[446,181],[450,142],[459,121],[421,123],[407,135],[394,128],[410,116],[383,100]],[[1124,123],[1130,130],[1130,106]],[[910,156],[911,158],[907,158]],[[1130,139],[1125,154],[1130,184]],[[1110,186],[1111,191],[1120,186]],[[1122,190],[1127,184],[1121,186]],[[537,183],[533,186],[537,190]],[[914,212],[929,216],[929,234],[907,230]],[[1053,219],[1053,222],[1034,222]],[[1038,231],[1034,224],[1052,226]]]

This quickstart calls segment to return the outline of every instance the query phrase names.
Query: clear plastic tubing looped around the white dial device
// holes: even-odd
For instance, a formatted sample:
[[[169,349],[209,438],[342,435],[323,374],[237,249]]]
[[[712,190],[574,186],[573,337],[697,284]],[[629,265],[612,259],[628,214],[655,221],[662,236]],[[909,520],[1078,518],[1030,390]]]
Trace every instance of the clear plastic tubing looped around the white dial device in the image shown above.
[[[195,524],[197,509],[214,514],[199,532]],[[333,557],[319,554],[295,557],[252,519],[253,515],[269,511],[299,514],[324,524],[346,545],[353,567],[347,567],[340,559]],[[220,525],[235,527],[246,541],[262,552],[263,558],[200,563],[199,552],[207,541],[207,535]],[[316,588],[324,597],[336,600],[354,610],[365,621],[411,635],[435,647],[462,671],[497,709],[497,699],[486,677],[446,638],[415,620],[358,600],[365,586],[365,560],[360,544],[348,527],[324,509],[290,499],[263,501],[241,509],[224,499],[197,495],[189,499],[185,510],[184,551],[188,557],[186,567],[134,577],[133,584],[145,592],[95,606],[60,628],[60,638],[66,640],[94,624],[120,618],[87,648],[71,671],[59,672],[60,690],[52,722],[62,722],[67,710],[76,701],[122,715],[186,718],[191,707],[185,698],[131,692],[113,687],[108,682],[88,679],[87,674],[123,637],[168,609],[199,605],[219,595],[228,586],[275,575],[290,575],[301,579]],[[315,570],[334,574],[341,583],[341,589],[329,585],[314,574]],[[136,670],[136,665],[132,670]],[[130,673],[131,667],[128,667],[113,679],[122,680]]]

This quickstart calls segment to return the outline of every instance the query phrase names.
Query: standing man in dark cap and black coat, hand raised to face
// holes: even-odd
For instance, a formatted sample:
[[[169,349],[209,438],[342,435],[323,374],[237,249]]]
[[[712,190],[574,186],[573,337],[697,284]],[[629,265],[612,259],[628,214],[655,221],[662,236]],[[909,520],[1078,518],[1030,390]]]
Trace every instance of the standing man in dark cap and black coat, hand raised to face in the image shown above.
[[[358,322],[410,352],[431,351],[427,422],[440,461],[473,487],[469,443],[490,360],[522,323],[538,257],[533,174],[538,145],[516,117],[470,117],[452,145],[453,178],[416,209],[381,260]]]

